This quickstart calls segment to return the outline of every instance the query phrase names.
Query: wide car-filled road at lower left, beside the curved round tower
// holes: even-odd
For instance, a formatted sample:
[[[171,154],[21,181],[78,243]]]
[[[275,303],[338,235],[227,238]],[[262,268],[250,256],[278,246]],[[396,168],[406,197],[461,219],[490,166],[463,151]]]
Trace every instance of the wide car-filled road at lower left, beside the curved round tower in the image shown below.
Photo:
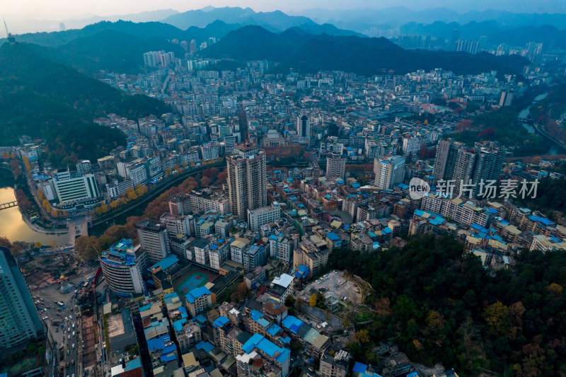
[[[75,286],[83,280],[86,281],[88,277],[94,276],[96,269],[98,269],[98,266],[85,266],[81,274],[72,277],[69,281]],[[79,376],[77,368],[79,368],[79,353],[82,351],[81,344],[78,342],[81,323],[80,320],[77,320],[74,311],[74,295],[75,289],[71,289],[69,293],[64,294],[58,285],[34,291],[35,302],[40,301],[40,303],[37,303],[37,308],[44,309],[40,315],[44,319],[48,317],[45,322],[52,331],[57,348],[63,347],[64,359],[60,361],[60,365],[64,366],[63,376],[69,377],[73,375]],[[64,303],[64,308],[57,304],[59,301]],[[47,310],[47,313],[45,313],[45,310]],[[67,363],[69,363],[69,367],[67,367]]]

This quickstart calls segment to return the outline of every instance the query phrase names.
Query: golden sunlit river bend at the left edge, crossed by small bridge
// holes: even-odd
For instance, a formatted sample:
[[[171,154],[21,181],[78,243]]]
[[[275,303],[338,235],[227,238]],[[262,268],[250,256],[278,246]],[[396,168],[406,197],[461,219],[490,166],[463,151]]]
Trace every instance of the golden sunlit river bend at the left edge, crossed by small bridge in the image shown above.
[[[0,204],[13,202],[14,200],[16,200],[16,196],[13,192],[13,177],[8,170],[0,169]],[[67,243],[67,233],[45,234],[30,229],[28,224],[25,224],[25,221],[23,221],[18,207],[0,211],[0,237],[6,237],[10,242],[40,242],[43,245],[47,245],[50,242],[57,243],[57,245]]]

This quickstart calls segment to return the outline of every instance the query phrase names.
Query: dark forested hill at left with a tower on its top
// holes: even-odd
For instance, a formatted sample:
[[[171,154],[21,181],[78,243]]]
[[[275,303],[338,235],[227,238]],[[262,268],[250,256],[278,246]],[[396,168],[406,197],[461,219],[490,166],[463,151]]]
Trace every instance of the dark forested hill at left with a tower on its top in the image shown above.
[[[168,112],[161,101],[130,96],[45,57],[36,45],[0,47],[0,139],[15,145],[28,134],[47,141],[57,166],[94,160],[125,144],[121,132],[100,127],[94,117],[110,112],[136,120]]]

